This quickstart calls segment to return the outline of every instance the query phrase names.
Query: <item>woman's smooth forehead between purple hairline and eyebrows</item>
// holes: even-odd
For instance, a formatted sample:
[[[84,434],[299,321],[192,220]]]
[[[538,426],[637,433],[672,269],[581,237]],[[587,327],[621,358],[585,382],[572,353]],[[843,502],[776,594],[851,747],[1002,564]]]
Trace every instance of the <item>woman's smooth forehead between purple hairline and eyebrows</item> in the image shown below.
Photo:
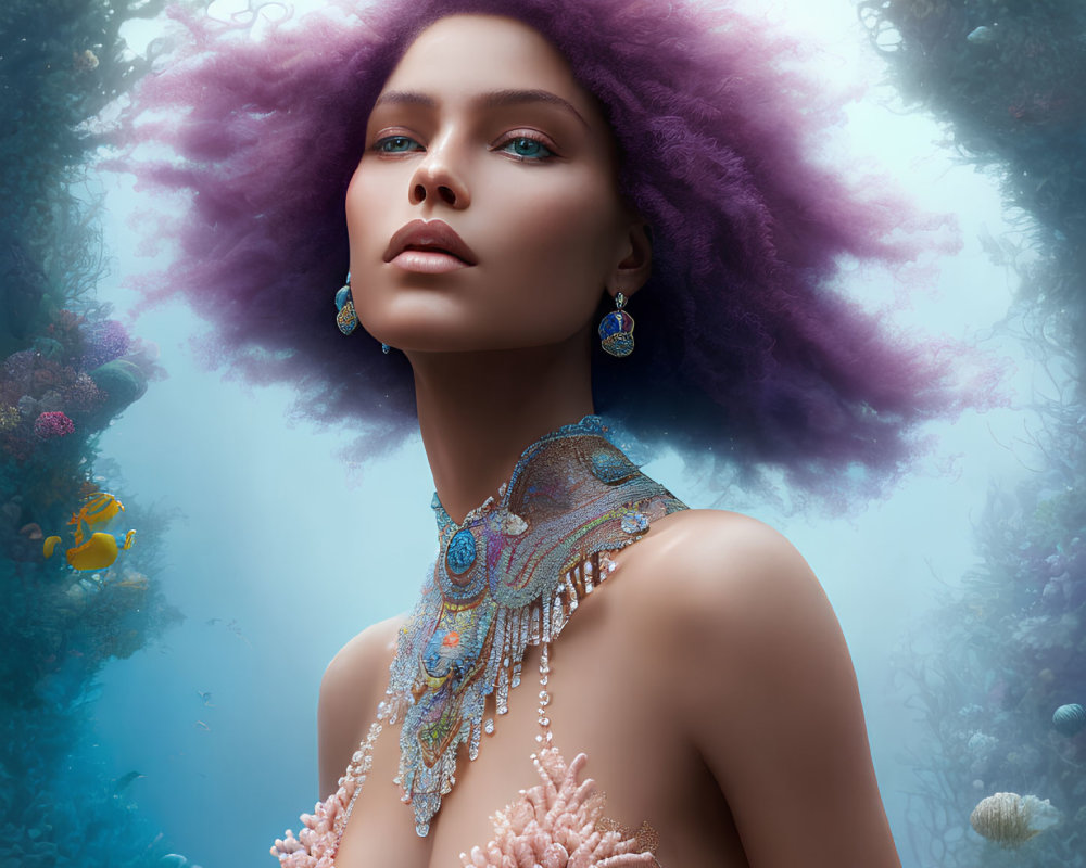
[[[496,89],[548,90],[590,123],[602,120],[594,98],[554,46],[527,24],[495,15],[434,22],[412,42],[383,88],[450,99]]]

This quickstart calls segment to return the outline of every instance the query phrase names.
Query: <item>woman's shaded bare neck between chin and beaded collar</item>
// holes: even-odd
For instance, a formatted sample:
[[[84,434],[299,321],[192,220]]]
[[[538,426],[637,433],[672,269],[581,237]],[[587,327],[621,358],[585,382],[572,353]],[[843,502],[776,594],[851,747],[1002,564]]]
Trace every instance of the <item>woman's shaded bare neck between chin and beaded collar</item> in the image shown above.
[[[497,494],[520,454],[593,411],[586,335],[557,346],[409,353],[422,446],[454,522]]]

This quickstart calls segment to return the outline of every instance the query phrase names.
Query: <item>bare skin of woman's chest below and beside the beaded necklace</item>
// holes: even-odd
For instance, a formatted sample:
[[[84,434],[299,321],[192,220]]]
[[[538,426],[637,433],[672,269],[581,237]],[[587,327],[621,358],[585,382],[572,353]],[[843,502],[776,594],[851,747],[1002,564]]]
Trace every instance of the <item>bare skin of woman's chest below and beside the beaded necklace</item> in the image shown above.
[[[603,599],[586,601],[582,609],[551,650],[545,716],[554,745],[566,762],[586,754],[579,781],[595,781],[606,799],[601,813],[613,826],[636,829],[647,821],[661,838],[666,832],[689,838],[689,830],[679,827],[692,815],[681,803],[693,801],[704,808],[697,791],[707,788],[712,797],[715,787],[704,780],[696,755],[670,725],[654,667],[637,659],[644,648],[616,641],[621,636],[614,635],[614,613]],[[462,864],[462,853],[495,838],[495,813],[522,800],[523,790],[541,786],[531,758],[543,732],[539,660],[540,649],[530,648],[523,680],[509,692],[508,713],[494,717],[494,732],[482,737],[477,758],[460,751],[456,782],[426,838],[416,834],[412,807],[401,802],[393,782],[399,727],[384,728],[340,841],[337,868],[453,868]],[[488,716],[494,716],[493,698],[489,701]]]

